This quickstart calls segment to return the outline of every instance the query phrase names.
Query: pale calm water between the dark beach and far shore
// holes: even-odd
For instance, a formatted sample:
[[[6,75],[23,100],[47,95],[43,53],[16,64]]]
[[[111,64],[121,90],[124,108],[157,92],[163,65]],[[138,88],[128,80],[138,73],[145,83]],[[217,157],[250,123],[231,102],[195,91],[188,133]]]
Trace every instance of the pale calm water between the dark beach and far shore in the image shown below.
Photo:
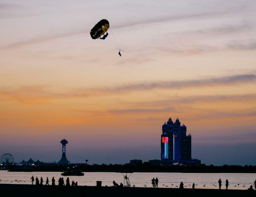
[[[31,184],[31,176],[43,177],[44,184],[46,177],[51,179],[54,176],[56,183],[61,176],[60,172],[7,172],[0,170],[0,184]],[[181,181],[184,183],[184,188],[192,188],[195,183],[195,188],[201,189],[218,189],[218,180],[222,180],[222,189],[225,189],[226,179],[229,181],[228,189],[247,189],[250,185],[254,185],[256,174],[252,173],[132,173],[130,175],[131,187],[152,187],[151,179],[157,177],[159,188],[178,188]],[[78,182],[78,185],[95,186],[96,181],[102,181],[102,186],[112,186],[113,180],[116,183],[123,183],[121,173],[112,172],[85,172],[84,176],[69,176],[70,182]],[[15,181],[17,180],[17,181]],[[64,176],[64,180],[66,177]],[[239,184],[239,185],[238,185]]]

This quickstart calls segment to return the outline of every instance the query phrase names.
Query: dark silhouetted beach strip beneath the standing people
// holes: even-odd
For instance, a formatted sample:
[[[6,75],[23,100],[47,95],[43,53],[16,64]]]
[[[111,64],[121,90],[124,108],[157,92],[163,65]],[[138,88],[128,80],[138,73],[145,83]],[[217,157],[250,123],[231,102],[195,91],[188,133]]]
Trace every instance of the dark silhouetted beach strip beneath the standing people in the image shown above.
[[[70,187],[69,190],[64,187],[60,189],[58,186],[52,188],[46,185],[21,185],[21,184],[0,184],[1,194],[4,196],[19,196],[19,197],[158,197],[158,196],[255,196],[256,191],[248,190],[219,190],[219,189],[177,189],[177,188],[116,188],[116,187],[101,187],[93,186],[78,186]]]

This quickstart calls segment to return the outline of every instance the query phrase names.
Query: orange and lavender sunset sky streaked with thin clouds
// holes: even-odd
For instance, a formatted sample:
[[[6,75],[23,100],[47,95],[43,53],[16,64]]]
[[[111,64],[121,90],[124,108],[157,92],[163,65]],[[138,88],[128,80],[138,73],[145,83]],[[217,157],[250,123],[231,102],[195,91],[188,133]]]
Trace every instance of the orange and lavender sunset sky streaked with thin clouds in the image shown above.
[[[254,0],[0,0],[0,156],[160,159],[179,118],[192,157],[256,165]],[[90,31],[110,24],[105,40]],[[121,49],[122,57],[118,52]]]

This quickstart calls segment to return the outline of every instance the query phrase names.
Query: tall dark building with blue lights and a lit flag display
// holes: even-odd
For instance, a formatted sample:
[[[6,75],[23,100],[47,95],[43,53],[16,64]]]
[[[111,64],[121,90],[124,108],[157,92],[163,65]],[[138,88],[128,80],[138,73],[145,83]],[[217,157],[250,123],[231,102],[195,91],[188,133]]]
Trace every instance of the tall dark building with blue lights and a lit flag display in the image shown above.
[[[187,127],[180,126],[179,119],[173,123],[169,118],[162,126],[161,160],[183,165],[200,165],[200,160],[191,158],[191,134],[186,135]]]

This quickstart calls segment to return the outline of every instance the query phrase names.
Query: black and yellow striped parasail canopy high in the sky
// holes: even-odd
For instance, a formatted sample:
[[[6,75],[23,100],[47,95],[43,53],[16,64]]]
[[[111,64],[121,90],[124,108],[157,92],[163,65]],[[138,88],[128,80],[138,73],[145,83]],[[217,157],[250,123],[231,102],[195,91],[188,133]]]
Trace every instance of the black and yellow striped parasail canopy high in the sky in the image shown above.
[[[90,35],[92,39],[105,39],[108,36],[109,22],[106,19],[102,19],[92,28]]]

